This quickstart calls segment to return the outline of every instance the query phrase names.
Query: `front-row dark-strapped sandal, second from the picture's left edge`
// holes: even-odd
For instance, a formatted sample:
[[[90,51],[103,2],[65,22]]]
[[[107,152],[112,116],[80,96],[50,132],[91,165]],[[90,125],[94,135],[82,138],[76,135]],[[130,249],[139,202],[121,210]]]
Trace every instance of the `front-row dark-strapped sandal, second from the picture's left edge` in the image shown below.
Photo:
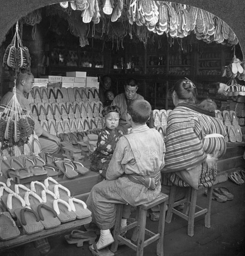
[[[44,229],[39,215],[32,209],[26,207],[18,208],[14,210],[14,213],[27,235],[40,232]]]

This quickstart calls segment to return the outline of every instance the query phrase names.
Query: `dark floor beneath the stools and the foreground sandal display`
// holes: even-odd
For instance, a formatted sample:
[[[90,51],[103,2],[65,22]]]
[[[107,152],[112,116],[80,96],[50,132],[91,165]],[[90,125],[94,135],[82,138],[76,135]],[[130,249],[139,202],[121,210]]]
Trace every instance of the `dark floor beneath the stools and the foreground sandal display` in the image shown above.
[[[187,236],[187,222],[178,216],[165,226],[165,256],[242,256],[245,255],[245,184],[236,185],[230,181],[215,187],[226,187],[234,194],[232,201],[220,203],[212,200],[211,228],[204,227],[204,218],[195,222],[194,236]],[[204,206],[205,195],[198,196],[198,204]],[[154,231],[158,222],[147,219],[147,228]],[[47,256],[90,256],[88,244],[77,248],[67,244],[65,234],[49,237],[51,251]],[[130,234],[127,234],[129,236]],[[1,256],[38,256],[33,243],[5,251]],[[132,249],[120,246],[116,256],[136,255]],[[144,249],[144,256],[156,255],[156,243]]]

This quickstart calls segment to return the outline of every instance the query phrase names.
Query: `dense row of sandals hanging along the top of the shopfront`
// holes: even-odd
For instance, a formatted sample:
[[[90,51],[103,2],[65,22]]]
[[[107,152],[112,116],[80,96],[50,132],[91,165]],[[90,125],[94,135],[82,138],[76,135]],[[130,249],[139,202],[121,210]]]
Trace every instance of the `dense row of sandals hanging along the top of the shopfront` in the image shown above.
[[[63,8],[69,7],[68,1],[61,2]],[[111,15],[111,21],[117,21],[121,15],[125,15],[133,25],[145,25],[149,31],[162,35],[169,34],[172,38],[183,38],[191,32],[196,38],[205,42],[235,45],[238,39],[232,29],[221,19],[212,13],[196,7],[188,7],[182,4],[153,0],[103,0],[100,6],[99,0],[71,1],[73,10],[80,10],[84,23],[93,21],[99,23],[103,14]]]

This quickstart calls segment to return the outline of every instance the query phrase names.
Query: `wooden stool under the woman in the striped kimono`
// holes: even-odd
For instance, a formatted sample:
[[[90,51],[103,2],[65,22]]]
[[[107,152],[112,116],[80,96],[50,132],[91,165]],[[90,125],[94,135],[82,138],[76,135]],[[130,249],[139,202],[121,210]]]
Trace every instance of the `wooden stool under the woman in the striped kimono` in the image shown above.
[[[197,196],[199,193],[198,189],[193,189],[190,187],[187,188],[185,198],[182,200],[179,200],[177,202],[174,202],[176,187],[172,186],[170,189],[166,222],[170,223],[172,220],[172,214],[175,213],[176,215],[178,215],[181,218],[188,221],[187,234],[188,234],[188,236],[193,236],[194,235],[194,219],[198,216],[205,214],[205,227],[209,229],[210,228],[211,203],[212,203],[212,189],[213,189],[213,187],[210,187],[207,189],[206,208],[201,208],[198,205],[196,205]],[[185,203],[183,212],[180,212],[177,209],[174,209],[174,207],[178,206],[181,203]],[[199,211],[195,212],[196,209],[198,209]]]

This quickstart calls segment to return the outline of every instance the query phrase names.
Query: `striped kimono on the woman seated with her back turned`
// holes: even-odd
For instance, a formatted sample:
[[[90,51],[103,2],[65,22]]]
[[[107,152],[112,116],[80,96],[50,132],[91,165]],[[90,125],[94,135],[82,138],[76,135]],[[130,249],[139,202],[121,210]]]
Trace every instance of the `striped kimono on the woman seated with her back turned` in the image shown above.
[[[217,158],[224,155],[226,144],[222,137],[204,139],[209,134],[220,134],[224,137],[226,135],[224,124],[209,112],[187,103],[180,103],[172,110],[168,116],[166,129],[163,185],[189,187],[174,172],[201,165],[199,186],[212,186],[217,175],[217,166],[208,168],[205,160],[207,154],[215,155]]]

